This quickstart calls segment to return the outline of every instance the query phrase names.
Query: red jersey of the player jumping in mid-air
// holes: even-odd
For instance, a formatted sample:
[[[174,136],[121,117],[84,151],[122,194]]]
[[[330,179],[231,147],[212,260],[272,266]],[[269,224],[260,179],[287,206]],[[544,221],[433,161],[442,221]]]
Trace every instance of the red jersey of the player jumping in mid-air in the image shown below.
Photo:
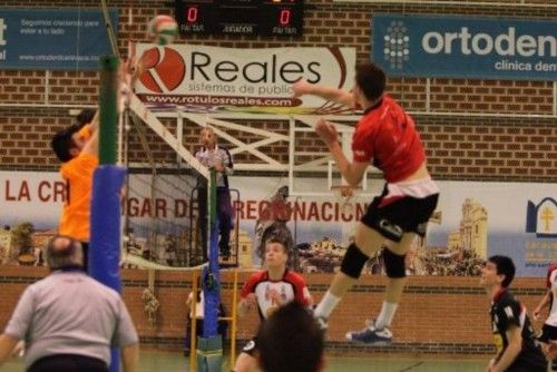
[[[354,161],[371,161],[388,183],[404,180],[426,160],[413,119],[391,97],[367,109],[352,137]]]

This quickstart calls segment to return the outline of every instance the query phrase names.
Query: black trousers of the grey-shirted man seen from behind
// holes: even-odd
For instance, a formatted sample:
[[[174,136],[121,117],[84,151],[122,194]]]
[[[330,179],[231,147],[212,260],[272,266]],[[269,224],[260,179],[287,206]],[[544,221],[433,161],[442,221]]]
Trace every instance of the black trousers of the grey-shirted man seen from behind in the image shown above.
[[[27,370],[27,372],[108,372],[106,363],[97,358],[56,354],[43,356]]]

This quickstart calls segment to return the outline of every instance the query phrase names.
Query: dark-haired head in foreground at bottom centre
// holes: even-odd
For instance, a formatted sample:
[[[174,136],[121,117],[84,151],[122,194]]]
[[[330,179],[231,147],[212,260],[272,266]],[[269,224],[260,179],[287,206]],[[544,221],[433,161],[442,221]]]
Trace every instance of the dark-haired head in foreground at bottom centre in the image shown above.
[[[317,372],[323,369],[324,336],[297,302],[278,307],[257,332],[258,363],[265,372]]]

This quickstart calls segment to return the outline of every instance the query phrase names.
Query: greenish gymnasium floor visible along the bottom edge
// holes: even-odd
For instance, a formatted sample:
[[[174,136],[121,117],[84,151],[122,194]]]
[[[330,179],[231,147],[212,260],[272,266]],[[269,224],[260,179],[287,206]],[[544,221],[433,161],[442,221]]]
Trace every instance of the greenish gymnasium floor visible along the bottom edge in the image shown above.
[[[326,372],[479,372],[487,364],[485,360],[418,360],[341,358],[326,359]],[[182,353],[144,351],[140,355],[138,372],[187,372],[189,360]],[[21,361],[10,361],[2,365],[2,372],[21,372]],[[223,371],[229,371],[228,360]],[[293,371],[294,372],[294,371]]]

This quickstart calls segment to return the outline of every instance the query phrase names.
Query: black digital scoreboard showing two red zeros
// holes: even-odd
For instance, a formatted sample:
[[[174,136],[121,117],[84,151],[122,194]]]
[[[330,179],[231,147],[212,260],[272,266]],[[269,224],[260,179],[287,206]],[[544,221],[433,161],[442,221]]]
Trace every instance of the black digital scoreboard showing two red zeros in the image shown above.
[[[302,35],[303,0],[176,0],[182,35]]]

